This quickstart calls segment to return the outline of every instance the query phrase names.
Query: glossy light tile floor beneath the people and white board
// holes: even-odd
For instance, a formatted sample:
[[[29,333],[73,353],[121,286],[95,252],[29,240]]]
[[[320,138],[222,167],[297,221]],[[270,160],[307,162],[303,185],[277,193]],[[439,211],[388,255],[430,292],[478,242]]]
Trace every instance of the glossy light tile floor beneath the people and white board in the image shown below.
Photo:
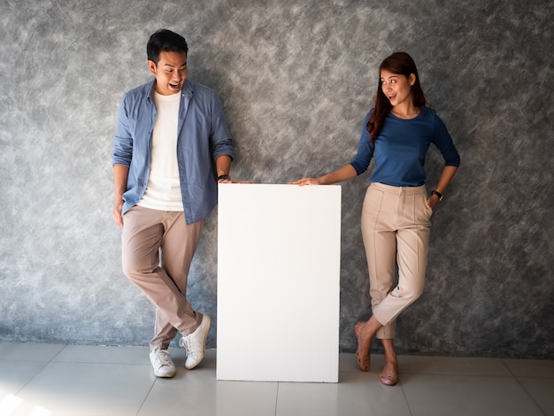
[[[362,373],[341,354],[338,383],[216,381],[215,350],[191,371],[172,356],[157,379],[147,347],[0,341],[0,415],[554,416],[554,360],[401,356],[387,387],[379,355]]]

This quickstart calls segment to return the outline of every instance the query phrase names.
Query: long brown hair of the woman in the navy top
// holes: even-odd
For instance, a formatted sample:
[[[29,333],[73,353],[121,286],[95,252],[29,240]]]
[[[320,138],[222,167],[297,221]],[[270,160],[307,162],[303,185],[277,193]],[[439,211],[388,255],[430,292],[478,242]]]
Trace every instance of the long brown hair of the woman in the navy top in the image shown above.
[[[413,62],[412,57],[406,52],[395,52],[388,58],[385,58],[379,66],[379,82],[377,84],[377,94],[375,95],[375,105],[373,106],[372,117],[367,121],[366,126],[371,143],[375,143],[377,135],[381,133],[385,118],[392,109],[389,98],[385,96],[381,88],[382,70],[404,75],[406,78],[410,78],[410,74],[413,73],[416,76],[416,81],[412,85],[413,104],[416,107],[421,107],[427,102],[423,89],[421,89],[421,85],[419,84],[418,68],[415,62]]]

